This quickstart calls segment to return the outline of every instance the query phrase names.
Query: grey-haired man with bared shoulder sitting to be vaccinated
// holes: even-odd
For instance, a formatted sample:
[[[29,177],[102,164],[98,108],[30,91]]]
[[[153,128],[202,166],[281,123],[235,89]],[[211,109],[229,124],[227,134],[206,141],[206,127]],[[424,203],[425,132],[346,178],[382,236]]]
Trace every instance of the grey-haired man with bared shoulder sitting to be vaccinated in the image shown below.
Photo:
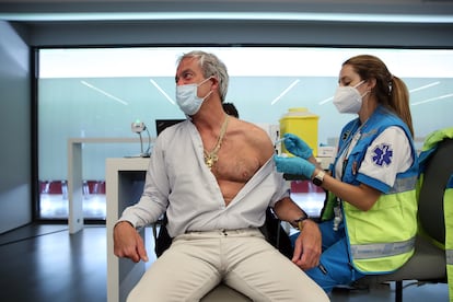
[[[179,58],[175,80],[188,118],[156,139],[142,197],[114,228],[115,255],[148,260],[135,228],[165,211],[174,240],[128,301],[198,301],[221,281],[255,301],[328,301],[301,270],[318,264],[320,230],[289,198],[268,135],[224,113],[223,62],[191,51]],[[292,262],[258,230],[269,206],[303,228]]]

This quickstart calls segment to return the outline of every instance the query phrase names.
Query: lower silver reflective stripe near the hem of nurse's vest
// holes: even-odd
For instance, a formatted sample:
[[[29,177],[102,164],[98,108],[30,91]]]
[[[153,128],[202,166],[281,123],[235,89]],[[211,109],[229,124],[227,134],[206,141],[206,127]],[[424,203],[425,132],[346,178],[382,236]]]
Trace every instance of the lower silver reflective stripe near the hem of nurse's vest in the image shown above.
[[[352,258],[371,259],[400,255],[410,252],[415,245],[415,237],[394,243],[373,243],[351,245]]]

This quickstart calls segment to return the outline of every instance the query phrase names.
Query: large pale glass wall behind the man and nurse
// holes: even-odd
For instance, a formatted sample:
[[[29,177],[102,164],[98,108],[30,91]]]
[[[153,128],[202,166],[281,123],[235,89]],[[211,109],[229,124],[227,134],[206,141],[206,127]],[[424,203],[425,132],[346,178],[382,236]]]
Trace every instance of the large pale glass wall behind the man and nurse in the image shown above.
[[[67,218],[67,143],[70,138],[136,138],[141,120],[155,137],[155,119],[184,118],[174,101],[176,59],[193,48],[40,49],[38,174],[42,218]],[[318,115],[318,142],[333,144],[353,116],[339,115],[332,97],[341,62],[376,55],[410,91],[416,137],[452,126],[453,50],[284,47],[204,47],[230,73],[228,102],[267,129],[289,108]],[[143,133],[147,142],[148,135]],[[140,153],[139,143],[83,146],[86,218],[105,217],[105,159]]]

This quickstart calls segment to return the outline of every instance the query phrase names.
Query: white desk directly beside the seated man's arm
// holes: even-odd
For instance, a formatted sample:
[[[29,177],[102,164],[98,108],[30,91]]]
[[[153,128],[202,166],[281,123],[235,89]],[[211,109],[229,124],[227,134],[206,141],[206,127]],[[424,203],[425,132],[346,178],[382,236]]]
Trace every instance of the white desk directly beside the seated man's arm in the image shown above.
[[[142,191],[149,159],[107,159],[106,160],[106,200],[107,200],[107,301],[126,301],[126,297],[144,272],[142,262],[114,255],[113,226],[123,210],[136,204]]]

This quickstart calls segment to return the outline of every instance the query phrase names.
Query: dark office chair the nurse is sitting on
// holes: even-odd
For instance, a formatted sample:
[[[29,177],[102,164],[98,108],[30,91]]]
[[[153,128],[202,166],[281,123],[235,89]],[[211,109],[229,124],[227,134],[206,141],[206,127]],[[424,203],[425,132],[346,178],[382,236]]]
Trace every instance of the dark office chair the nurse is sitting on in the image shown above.
[[[388,275],[367,276],[357,281],[357,286],[395,281],[395,301],[403,301],[403,280],[438,283],[446,282],[445,251],[439,244],[445,244],[445,223],[443,194],[450,175],[453,174],[453,139],[446,138],[438,143],[429,158],[423,182],[418,191],[419,232],[416,236],[414,256],[398,270]]]

